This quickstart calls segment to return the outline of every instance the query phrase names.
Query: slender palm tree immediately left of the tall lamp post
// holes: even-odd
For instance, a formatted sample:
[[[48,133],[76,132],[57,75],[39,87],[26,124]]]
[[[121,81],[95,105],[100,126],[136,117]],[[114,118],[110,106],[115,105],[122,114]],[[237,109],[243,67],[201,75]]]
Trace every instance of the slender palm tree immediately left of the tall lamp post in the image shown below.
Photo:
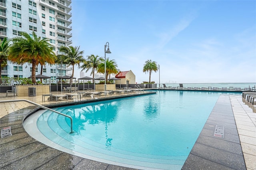
[[[98,55],[89,55],[87,56],[86,61],[84,62],[84,64],[80,67],[82,68],[82,71],[86,69],[86,73],[92,69],[90,75],[92,75],[92,78],[94,78],[94,73],[95,71],[98,71],[98,65],[100,64],[100,60],[102,59],[102,57],[98,56]],[[93,83],[94,83],[94,79],[93,79]]]

